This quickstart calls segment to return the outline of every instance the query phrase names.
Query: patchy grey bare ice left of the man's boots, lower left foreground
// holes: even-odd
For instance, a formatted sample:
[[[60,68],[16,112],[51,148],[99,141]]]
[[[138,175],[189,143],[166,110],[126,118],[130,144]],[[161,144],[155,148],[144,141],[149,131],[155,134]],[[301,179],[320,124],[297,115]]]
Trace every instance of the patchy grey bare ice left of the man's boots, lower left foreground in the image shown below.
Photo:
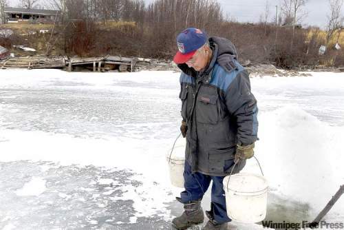
[[[49,169],[41,171],[43,165]],[[169,224],[157,215],[133,222],[136,210],[125,188],[138,187],[140,182],[131,171],[23,160],[0,163],[0,168],[0,229],[101,229],[109,220],[124,226],[109,224],[110,229],[141,229],[149,220],[156,222],[155,227]],[[15,191],[32,184],[32,178],[45,178],[45,191],[39,196],[17,196]],[[103,178],[113,178],[118,185],[100,184]],[[114,192],[105,194],[109,187]]]

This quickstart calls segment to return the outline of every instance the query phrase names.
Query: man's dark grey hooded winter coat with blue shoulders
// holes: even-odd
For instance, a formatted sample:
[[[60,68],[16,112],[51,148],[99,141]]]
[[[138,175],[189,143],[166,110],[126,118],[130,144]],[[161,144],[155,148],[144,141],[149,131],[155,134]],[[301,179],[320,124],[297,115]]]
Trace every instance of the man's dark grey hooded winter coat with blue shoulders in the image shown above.
[[[226,176],[234,165],[236,145],[257,140],[257,101],[234,45],[215,36],[209,43],[213,56],[204,72],[178,65],[181,113],[188,126],[185,155],[193,171]],[[245,164],[240,160],[233,173]]]

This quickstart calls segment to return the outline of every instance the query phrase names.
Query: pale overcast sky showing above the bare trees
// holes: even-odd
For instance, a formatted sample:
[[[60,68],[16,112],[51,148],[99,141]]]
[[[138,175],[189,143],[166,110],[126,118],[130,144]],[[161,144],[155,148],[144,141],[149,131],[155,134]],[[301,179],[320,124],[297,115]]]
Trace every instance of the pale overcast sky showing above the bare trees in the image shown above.
[[[19,0],[8,0],[11,6],[17,6]],[[155,0],[144,0],[147,3],[151,3]],[[217,0],[222,5],[222,9],[225,14],[237,19],[241,22],[256,22],[259,21],[259,17],[264,14],[267,0]],[[280,6],[281,0],[268,0],[270,6],[269,18],[270,21],[275,19],[276,5]],[[44,0],[41,0],[42,6],[44,6]],[[280,10],[280,7],[279,7]],[[303,20],[303,25],[317,25],[322,27],[325,25],[329,13],[328,0],[308,0],[305,6],[305,10],[308,12],[308,16]],[[344,14],[344,6],[342,8]]]

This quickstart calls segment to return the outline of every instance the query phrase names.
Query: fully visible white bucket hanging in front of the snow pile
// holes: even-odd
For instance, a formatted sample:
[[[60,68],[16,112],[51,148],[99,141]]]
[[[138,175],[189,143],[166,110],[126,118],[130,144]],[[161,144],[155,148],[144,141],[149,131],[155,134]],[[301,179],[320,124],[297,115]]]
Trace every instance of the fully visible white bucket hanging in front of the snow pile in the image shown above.
[[[268,182],[264,177],[240,173],[226,176],[223,185],[230,219],[250,224],[266,218]]]

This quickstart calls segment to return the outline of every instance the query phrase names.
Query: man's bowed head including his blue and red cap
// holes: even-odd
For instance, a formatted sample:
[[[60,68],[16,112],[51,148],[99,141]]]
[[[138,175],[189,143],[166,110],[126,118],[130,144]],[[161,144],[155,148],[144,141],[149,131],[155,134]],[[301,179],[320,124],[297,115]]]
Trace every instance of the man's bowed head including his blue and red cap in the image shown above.
[[[185,63],[196,71],[204,70],[211,59],[211,48],[206,34],[196,28],[187,28],[177,36],[178,52],[173,61]]]

